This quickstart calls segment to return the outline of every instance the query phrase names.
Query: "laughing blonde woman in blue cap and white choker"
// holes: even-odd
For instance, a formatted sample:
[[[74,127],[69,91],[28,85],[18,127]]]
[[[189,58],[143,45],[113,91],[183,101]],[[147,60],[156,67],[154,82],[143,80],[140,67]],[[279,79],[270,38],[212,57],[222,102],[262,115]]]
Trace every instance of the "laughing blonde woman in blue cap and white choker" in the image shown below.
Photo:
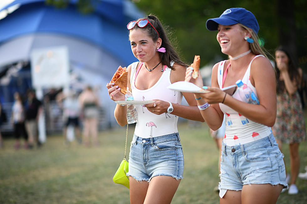
[[[220,203],[276,203],[285,182],[283,154],[272,134],[276,118],[274,69],[258,43],[255,16],[244,8],[230,8],[207,20],[208,30],[217,30],[221,52],[229,59],[212,69],[210,92],[195,93],[200,112],[209,127],[218,129],[226,118],[222,143]],[[259,99],[243,102],[237,89],[232,96],[221,88],[242,80]],[[201,76],[186,81],[202,87]]]

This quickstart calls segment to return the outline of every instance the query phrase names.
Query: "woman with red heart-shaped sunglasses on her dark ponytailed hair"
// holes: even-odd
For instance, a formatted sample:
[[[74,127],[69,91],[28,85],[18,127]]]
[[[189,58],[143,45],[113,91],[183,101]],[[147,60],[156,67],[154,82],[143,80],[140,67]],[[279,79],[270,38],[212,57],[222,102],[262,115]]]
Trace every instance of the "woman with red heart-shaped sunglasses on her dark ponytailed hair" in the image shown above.
[[[136,105],[136,123],[129,155],[130,202],[170,203],[183,178],[184,159],[177,130],[178,117],[204,121],[193,93],[167,89],[184,81],[186,67],[161,25],[153,15],[129,22],[129,40],[139,60],[127,67],[133,99],[154,100]],[[110,98],[123,101],[120,88],[108,83]],[[128,80],[128,87],[130,81]],[[180,105],[182,96],[190,106]],[[118,105],[114,115],[119,125],[127,124],[127,107]]]

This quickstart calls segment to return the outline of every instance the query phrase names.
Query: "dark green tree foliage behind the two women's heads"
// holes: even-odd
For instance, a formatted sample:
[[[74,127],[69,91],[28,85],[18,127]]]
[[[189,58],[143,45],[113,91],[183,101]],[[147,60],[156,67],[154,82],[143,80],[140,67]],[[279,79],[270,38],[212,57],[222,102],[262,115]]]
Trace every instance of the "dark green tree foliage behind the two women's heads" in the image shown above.
[[[288,40],[279,38],[277,22],[280,17],[276,13],[277,1],[140,0],[135,2],[146,14],[157,15],[166,25],[174,29],[171,38],[177,40],[181,55],[188,63],[193,61],[194,55],[200,55],[201,66],[226,59],[227,56],[221,53],[220,46],[216,42],[216,32],[206,29],[206,21],[209,18],[219,17],[225,9],[231,7],[244,7],[254,13],[260,26],[258,36],[264,41],[264,47],[269,53],[273,54],[280,42]],[[306,1],[295,0],[297,50],[301,67],[307,66],[305,10]]]

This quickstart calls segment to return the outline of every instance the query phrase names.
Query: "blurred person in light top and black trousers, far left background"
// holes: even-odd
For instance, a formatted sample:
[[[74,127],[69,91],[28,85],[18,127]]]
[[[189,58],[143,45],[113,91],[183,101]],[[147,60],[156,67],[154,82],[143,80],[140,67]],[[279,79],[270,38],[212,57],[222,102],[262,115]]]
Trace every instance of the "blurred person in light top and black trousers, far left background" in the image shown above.
[[[14,127],[14,134],[15,134],[15,145],[14,148],[18,150],[20,148],[20,136],[22,135],[24,138],[24,148],[28,148],[28,134],[24,126],[25,120],[25,109],[23,106],[22,97],[19,92],[14,93],[14,103],[12,107],[12,117],[11,122],[13,123]]]

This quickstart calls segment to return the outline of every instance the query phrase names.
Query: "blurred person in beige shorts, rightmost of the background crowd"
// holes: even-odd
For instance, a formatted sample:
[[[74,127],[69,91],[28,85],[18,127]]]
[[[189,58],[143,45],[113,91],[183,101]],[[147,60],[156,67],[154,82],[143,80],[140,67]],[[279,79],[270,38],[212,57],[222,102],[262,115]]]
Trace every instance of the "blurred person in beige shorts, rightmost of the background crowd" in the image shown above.
[[[98,146],[98,117],[99,101],[91,86],[87,86],[79,96],[79,104],[83,117],[83,144],[86,147],[91,143]]]

